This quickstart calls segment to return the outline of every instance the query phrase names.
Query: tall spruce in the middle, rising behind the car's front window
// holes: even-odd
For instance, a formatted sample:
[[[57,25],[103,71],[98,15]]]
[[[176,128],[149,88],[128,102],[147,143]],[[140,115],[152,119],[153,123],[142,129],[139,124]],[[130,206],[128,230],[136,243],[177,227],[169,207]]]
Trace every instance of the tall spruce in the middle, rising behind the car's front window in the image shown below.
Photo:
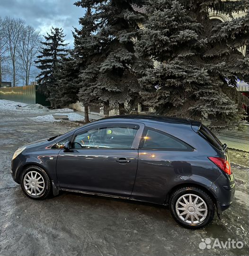
[[[139,24],[144,15],[133,9],[144,0],[78,0],[75,5],[91,8],[92,15],[80,18],[90,24],[89,35],[81,37],[79,55],[86,57],[86,68],[80,72],[79,97],[85,104],[119,107],[125,113],[125,102],[135,105],[139,98],[140,60],[134,51]],[[78,36],[82,31],[78,31]]]

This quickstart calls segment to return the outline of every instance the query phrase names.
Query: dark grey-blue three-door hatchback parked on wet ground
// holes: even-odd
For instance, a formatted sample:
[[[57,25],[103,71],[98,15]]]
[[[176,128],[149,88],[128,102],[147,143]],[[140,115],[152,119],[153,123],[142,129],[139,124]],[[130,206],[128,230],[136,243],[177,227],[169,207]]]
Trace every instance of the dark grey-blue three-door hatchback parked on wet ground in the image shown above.
[[[169,206],[184,227],[202,228],[235,192],[226,145],[186,119],[116,116],[19,148],[11,174],[32,199],[59,190]]]

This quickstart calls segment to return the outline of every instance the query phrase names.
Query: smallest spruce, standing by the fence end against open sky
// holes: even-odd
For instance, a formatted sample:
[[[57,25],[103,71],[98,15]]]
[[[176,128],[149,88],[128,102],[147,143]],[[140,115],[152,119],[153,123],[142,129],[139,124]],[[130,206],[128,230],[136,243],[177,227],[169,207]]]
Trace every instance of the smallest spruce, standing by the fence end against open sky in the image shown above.
[[[42,42],[43,46],[36,61],[37,68],[41,70],[37,76],[39,89],[44,92],[53,107],[56,107],[54,101],[60,90],[57,73],[61,69],[62,58],[68,55],[68,44],[64,43],[64,37],[62,28],[52,27],[51,33],[44,36],[45,41]]]

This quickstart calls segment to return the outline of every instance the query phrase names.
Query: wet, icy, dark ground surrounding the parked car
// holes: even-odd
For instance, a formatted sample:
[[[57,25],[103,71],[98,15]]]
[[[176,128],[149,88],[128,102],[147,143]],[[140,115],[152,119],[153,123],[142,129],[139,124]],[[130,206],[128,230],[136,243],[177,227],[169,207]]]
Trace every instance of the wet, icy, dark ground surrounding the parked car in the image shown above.
[[[28,110],[0,109],[0,256],[249,254],[246,168],[233,167],[237,191],[231,208],[223,212],[222,220],[215,216],[213,223],[201,230],[184,229],[165,207],[141,202],[70,192],[44,201],[28,199],[10,174],[14,151],[29,142],[74,128],[30,119],[38,115]],[[205,238],[211,239],[210,249],[199,248]],[[244,246],[213,247],[215,238],[220,243],[234,239]]]

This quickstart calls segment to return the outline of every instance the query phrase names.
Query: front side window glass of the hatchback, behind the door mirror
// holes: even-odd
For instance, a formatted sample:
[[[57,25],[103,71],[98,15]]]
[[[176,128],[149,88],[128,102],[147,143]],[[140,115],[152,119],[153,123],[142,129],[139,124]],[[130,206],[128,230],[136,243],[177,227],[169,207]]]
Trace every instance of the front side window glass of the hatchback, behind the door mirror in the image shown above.
[[[72,148],[120,148],[129,149],[137,133],[137,126],[122,125],[93,128],[78,134]]]

